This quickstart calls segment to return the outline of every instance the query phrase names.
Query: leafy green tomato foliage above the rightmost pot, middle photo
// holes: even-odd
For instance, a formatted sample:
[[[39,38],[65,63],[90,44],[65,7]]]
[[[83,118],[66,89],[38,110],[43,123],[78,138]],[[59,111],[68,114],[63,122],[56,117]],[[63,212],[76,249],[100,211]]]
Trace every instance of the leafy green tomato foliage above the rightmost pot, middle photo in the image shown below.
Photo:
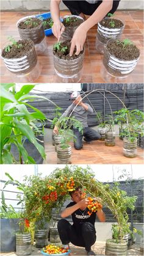
[[[139,109],[120,109],[113,112],[116,114],[115,122],[120,126],[120,136],[127,137],[131,142],[135,141],[137,138],[137,132],[143,136],[143,120],[144,113]]]

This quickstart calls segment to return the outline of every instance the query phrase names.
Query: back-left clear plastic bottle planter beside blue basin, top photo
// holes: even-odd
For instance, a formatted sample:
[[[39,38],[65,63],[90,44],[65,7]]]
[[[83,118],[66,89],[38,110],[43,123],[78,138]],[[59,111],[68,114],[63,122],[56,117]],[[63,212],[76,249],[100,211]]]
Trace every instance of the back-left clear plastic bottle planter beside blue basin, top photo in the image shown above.
[[[18,27],[18,32],[19,32],[21,38],[23,38],[23,39],[30,38],[35,44],[35,49],[37,51],[37,54],[41,54],[47,48],[43,22],[41,21],[40,25],[38,25],[37,27],[31,28],[31,29],[21,29],[19,27],[20,23],[22,21],[27,20],[27,18],[37,18],[37,17],[33,16],[33,15],[25,16],[24,18],[21,18],[20,20],[18,20],[18,22],[16,23],[16,25]]]

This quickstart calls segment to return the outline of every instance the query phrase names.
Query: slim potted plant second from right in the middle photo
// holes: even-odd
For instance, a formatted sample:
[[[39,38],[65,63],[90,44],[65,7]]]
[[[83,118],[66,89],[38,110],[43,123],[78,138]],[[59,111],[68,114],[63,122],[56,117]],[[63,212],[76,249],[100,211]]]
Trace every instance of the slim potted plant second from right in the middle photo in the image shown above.
[[[115,146],[115,131],[113,130],[114,120],[112,115],[108,115],[107,127],[108,130],[105,133],[105,145],[108,147]]]

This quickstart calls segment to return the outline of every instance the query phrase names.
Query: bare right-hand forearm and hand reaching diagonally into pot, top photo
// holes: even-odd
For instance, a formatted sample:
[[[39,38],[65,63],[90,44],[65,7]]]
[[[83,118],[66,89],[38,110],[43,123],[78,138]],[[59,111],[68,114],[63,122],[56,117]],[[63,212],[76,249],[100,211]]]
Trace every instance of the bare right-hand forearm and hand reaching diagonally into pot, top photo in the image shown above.
[[[76,55],[82,51],[88,30],[99,21],[103,20],[104,16],[106,16],[107,13],[112,9],[113,1],[115,0],[103,0],[95,12],[79,27],[77,27],[71,40],[70,56],[73,55],[75,46]]]

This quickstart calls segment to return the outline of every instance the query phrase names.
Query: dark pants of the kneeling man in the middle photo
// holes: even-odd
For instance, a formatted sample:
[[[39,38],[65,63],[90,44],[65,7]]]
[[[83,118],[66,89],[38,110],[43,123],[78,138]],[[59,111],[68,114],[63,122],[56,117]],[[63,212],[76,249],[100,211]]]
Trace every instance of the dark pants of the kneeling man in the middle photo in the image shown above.
[[[79,132],[77,129],[73,129],[74,133],[74,148],[77,150],[82,148],[82,137],[84,136],[84,140],[87,142],[97,141],[101,139],[101,135],[98,131],[93,130],[92,128],[85,127],[83,130],[83,134]]]

